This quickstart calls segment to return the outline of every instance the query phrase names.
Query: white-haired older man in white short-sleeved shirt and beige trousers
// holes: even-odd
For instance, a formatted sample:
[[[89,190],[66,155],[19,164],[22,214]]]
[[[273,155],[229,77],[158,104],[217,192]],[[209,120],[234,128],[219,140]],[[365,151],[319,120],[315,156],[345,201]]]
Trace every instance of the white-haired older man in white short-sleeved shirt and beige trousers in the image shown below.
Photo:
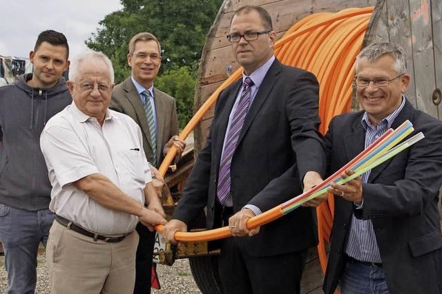
[[[113,67],[104,54],[78,56],[69,79],[73,103],[48,121],[40,142],[57,214],[47,246],[51,293],[132,293],[135,226],[166,222],[141,131],[108,109]]]

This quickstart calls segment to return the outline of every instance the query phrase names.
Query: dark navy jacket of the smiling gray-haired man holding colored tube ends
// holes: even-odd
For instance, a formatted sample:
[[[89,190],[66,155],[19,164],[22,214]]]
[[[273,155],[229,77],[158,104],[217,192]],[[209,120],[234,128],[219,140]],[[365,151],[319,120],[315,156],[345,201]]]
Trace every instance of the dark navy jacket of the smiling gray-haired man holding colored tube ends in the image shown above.
[[[329,174],[364,149],[363,112],[336,116],[326,135]],[[357,217],[373,222],[390,293],[442,293],[442,235],[437,202],[442,184],[442,123],[406,103],[392,124],[410,120],[425,138],[372,169]],[[412,136],[410,135],[410,136]],[[335,196],[325,293],[333,293],[345,267],[352,202]]]

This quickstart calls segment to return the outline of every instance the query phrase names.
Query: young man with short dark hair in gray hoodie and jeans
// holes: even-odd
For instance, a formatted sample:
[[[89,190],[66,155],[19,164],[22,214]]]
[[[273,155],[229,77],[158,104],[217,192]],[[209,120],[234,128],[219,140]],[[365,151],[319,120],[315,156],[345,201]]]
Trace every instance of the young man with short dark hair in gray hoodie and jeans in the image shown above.
[[[72,102],[61,77],[68,56],[64,34],[41,32],[29,55],[32,74],[0,87],[0,240],[8,293],[34,293],[38,246],[46,246],[54,220],[39,140],[49,118]]]

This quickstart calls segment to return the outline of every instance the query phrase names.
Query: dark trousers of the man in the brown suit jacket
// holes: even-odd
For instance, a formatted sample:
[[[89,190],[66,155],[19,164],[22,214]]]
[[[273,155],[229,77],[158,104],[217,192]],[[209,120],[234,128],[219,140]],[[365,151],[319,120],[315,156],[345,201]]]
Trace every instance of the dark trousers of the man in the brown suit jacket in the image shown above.
[[[155,231],[151,232],[144,224],[139,222],[136,227],[140,242],[137,247],[135,262],[135,288],[134,294],[151,293],[151,271],[153,246],[155,244]]]

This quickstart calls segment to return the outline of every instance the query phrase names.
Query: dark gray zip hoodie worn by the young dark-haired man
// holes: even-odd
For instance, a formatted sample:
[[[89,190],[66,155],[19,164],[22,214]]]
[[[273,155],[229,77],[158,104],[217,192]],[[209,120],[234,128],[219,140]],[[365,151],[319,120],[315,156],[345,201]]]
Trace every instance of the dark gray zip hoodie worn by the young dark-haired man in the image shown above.
[[[17,209],[48,209],[50,182],[40,150],[46,122],[70,105],[66,81],[49,89],[30,87],[32,74],[0,87],[0,203]]]

